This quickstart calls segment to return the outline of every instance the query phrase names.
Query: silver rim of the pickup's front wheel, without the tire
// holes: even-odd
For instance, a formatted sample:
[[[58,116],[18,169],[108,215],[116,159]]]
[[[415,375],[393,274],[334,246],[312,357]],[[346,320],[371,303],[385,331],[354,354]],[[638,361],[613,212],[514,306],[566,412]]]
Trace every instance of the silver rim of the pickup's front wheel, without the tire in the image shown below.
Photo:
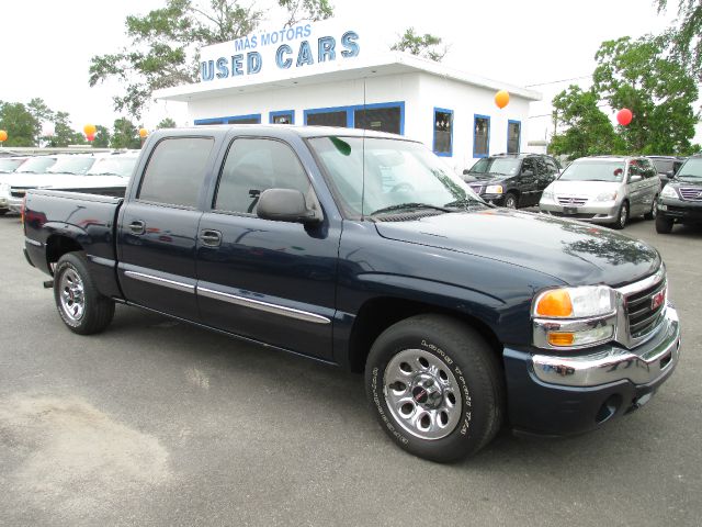
[[[393,417],[412,436],[441,439],[461,421],[461,393],[451,369],[421,349],[405,349],[385,368],[383,393]]]

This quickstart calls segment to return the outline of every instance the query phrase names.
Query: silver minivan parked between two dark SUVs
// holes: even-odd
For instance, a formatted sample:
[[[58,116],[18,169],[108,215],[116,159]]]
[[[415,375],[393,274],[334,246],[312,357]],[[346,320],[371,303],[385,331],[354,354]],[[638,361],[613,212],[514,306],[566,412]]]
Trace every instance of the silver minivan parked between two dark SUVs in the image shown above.
[[[546,187],[539,210],[624,228],[632,216],[655,218],[659,193],[658,172],[645,157],[581,157]]]

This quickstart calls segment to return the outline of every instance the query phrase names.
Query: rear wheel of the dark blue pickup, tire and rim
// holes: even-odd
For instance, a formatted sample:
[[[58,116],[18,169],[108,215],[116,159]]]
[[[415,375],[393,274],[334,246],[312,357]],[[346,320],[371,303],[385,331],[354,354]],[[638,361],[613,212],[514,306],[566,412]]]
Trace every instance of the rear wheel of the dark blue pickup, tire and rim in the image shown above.
[[[64,324],[80,335],[102,332],[114,316],[114,302],[100,294],[79,253],[68,253],[56,264],[54,300]]]

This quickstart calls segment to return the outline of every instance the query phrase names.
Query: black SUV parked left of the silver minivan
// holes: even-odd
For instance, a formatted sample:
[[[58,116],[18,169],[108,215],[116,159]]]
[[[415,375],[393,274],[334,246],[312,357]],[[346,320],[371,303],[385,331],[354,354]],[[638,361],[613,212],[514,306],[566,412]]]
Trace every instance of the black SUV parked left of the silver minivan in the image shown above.
[[[561,173],[561,165],[542,154],[497,154],[463,171],[463,179],[485,201],[509,209],[537,205]]]

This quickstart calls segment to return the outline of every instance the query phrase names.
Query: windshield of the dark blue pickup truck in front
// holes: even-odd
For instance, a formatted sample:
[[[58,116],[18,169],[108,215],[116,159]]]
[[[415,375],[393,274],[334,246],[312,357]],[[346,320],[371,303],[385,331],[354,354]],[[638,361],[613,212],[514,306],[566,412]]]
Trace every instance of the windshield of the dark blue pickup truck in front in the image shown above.
[[[403,205],[443,210],[483,203],[434,154],[417,143],[316,137],[309,144],[352,215],[381,213],[385,209],[399,212]]]

